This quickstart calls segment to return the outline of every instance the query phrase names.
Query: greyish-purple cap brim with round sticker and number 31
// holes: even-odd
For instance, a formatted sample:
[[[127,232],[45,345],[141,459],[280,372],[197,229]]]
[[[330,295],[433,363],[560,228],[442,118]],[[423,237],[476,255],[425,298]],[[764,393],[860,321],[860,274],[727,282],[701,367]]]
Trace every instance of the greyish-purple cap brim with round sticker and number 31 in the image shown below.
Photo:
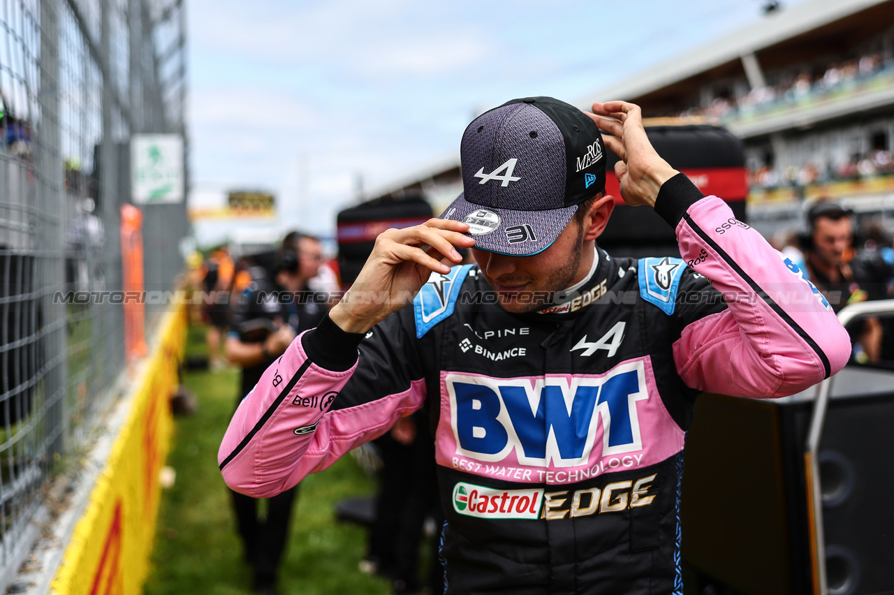
[[[475,205],[460,194],[441,219],[469,223],[467,233],[479,250],[508,256],[534,256],[552,246],[578,205],[544,211],[514,211]]]

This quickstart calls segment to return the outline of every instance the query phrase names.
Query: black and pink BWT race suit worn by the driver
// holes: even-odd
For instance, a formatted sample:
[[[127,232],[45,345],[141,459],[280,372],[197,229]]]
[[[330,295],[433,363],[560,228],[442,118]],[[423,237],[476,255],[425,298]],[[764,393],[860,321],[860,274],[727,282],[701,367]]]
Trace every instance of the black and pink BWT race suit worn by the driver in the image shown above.
[[[720,198],[680,175],[656,211],[683,260],[597,248],[586,282],[536,312],[507,313],[458,266],[365,338],[325,319],[242,401],[224,479],[271,496],[427,407],[448,593],[681,593],[696,395],[789,395],[836,373],[850,344]]]

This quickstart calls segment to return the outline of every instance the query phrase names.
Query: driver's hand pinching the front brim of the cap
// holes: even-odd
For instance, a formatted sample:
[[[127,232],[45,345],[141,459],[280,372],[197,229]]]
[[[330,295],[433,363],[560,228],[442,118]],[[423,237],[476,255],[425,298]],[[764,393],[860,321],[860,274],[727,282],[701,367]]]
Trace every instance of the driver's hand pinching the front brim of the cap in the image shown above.
[[[409,304],[432,272],[446,274],[449,264],[462,262],[454,246],[475,244],[464,231],[467,224],[443,219],[383,231],[357,281],[330,310],[333,323],[342,331],[366,332]]]

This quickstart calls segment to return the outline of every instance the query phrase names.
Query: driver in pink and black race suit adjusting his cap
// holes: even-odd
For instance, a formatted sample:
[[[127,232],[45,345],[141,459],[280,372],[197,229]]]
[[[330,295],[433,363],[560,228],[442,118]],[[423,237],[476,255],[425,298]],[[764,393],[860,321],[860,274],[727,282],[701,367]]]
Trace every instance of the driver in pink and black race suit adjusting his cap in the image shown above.
[[[637,105],[593,112],[527,97],[469,124],[464,193],[381,234],[240,404],[218,455],[232,489],[288,490],[425,407],[447,593],[682,592],[696,395],[789,395],[850,344],[796,264],[654,151]],[[605,145],[621,197],[671,224],[683,260],[596,246]]]

